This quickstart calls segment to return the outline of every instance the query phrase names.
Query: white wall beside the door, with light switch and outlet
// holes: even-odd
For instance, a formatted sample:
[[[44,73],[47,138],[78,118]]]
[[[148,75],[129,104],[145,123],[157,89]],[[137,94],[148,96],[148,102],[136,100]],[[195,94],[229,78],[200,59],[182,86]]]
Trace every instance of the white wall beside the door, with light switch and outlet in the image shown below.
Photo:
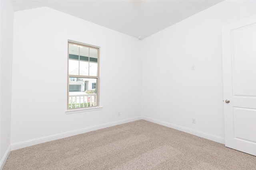
[[[223,143],[221,27],[255,13],[224,1],[143,39],[142,116]]]

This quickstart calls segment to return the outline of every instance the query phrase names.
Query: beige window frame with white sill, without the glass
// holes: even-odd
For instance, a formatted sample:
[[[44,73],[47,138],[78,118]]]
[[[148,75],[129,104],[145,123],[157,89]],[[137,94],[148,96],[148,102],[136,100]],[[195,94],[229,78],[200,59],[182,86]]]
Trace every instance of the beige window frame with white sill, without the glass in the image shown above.
[[[77,41],[72,41],[68,40],[68,49],[69,49],[69,44],[76,44],[76,45],[81,45],[93,49],[98,49],[98,57],[97,57],[97,63],[98,63],[98,68],[97,68],[97,76],[81,76],[81,75],[69,75],[69,69],[67,69],[67,75],[68,75],[68,89],[67,89],[67,110],[66,114],[69,113],[80,113],[84,111],[93,111],[93,110],[100,110],[102,109],[102,106],[100,106],[100,97],[99,97],[99,91],[100,91],[100,76],[99,76],[99,68],[100,68],[100,61],[99,61],[99,56],[100,56],[100,47],[95,46],[95,45],[89,45],[86,43],[80,43]],[[69,63],[69,50],[68,50],[68,63]],[[68,67],[67,67],[68,68]],[[96,78],[97,79],[97,106],[88,106],[88,107],[80,107],[80,108],[69,108],[69,81],[70,77],[76,77],[76,78]]]

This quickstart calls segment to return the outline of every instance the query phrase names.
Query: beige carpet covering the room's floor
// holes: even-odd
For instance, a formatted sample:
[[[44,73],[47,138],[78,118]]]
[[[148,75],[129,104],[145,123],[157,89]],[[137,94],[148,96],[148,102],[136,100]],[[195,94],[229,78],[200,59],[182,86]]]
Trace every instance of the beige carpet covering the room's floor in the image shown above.
[[[139,120],[11,151],[3,170],[256,170],[256,156]]]

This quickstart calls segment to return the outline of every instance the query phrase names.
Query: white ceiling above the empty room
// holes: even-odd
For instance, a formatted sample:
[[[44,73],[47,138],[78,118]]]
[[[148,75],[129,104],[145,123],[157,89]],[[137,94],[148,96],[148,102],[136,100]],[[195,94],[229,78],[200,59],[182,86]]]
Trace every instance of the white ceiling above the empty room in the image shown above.
[[[47,6],[146,38],[223,0],[12,0],[14,11]]]

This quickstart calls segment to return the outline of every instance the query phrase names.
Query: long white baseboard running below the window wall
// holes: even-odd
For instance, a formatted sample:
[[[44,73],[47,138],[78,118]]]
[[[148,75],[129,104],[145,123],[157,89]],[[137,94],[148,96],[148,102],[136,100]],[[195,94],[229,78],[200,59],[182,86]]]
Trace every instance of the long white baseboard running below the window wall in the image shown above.
[[[132,117],[132,118],[129,118],[129,119],[123,119],[123,120],[120,120],[120,121],[104,123],[104,124],[101,124],[101,125],[86,127],[86,128],[78,129],[78,130],[74,130],[74,131],[59,133],[59,134],[56,134],[56,135],[50,135],[50,136],[36,138],[36,139],[28,140],[28,141],[12,143],[11,146],[12,146],[12,150],[21,149],[21,148],[24,148],[24,147],[30,147],[32,145],[37,145],[37,144],[40,144],[40,143],[54,141],[54,140],[57,140],[57,139],[62,139],[62,138],[65,138],[65,137],[70,137],[70,136],[78,135],[78,134],[81,134],[81,133],[95,131],[95,130],[98,130],[98,129],[103,129],[103,128],[106,128],[106,127],[111,127],[111,126],[114,126],[114,125],[128,123],[128,122],[132,122],[132,121],[136,121],[136,120],[140,120],[140,119],[142,119],[141,116]]]

